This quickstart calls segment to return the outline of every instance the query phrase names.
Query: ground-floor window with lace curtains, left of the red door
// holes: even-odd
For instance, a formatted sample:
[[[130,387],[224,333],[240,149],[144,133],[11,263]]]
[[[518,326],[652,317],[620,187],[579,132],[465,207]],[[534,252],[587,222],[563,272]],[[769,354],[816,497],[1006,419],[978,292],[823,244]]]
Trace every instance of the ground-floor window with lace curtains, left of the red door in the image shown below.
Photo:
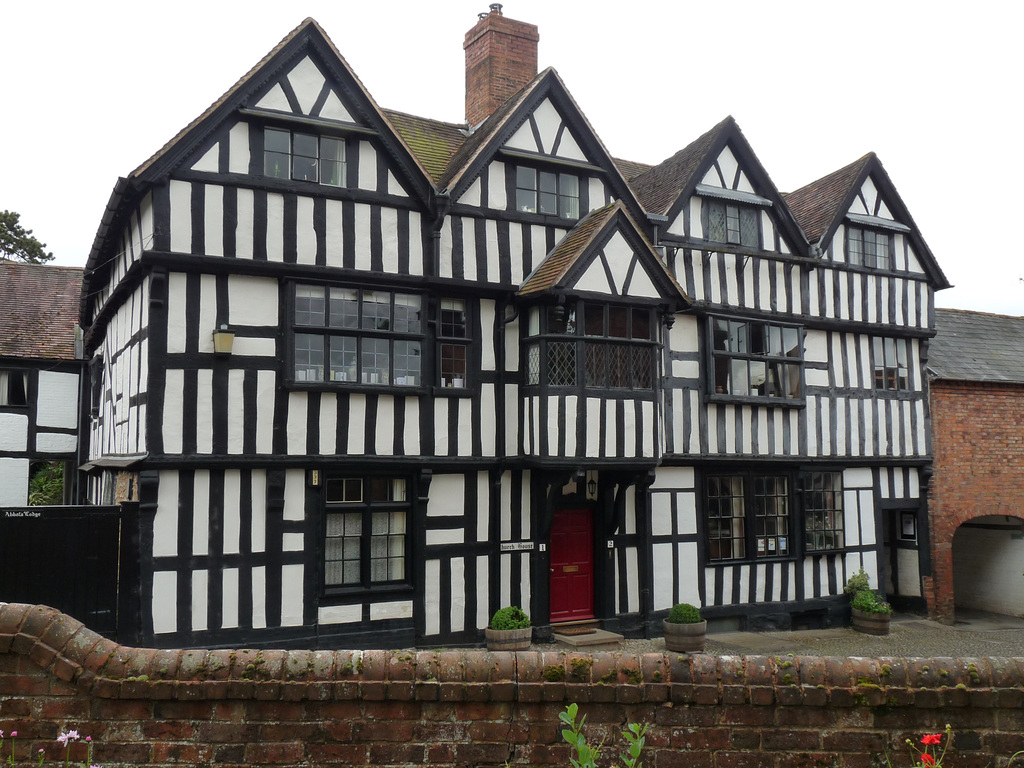
[[[325,483],[327,588],[407,581],[410,504],[404,479],[334,477]]]

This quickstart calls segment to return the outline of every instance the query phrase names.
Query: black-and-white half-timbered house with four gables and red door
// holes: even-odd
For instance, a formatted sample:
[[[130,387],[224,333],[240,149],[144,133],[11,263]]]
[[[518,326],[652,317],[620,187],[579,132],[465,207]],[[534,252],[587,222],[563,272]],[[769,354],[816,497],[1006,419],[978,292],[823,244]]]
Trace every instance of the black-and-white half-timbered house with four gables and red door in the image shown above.
[[[492,6],[467,61],[502,35],[534,60],[455,125],[382,110],[307,19],[115,187],[87,466],[150,521],[146,642],[823,624],[891,510],[921,595],[946,284],[878,160],[782,196],[730,118],[615,161],[535,27]]]

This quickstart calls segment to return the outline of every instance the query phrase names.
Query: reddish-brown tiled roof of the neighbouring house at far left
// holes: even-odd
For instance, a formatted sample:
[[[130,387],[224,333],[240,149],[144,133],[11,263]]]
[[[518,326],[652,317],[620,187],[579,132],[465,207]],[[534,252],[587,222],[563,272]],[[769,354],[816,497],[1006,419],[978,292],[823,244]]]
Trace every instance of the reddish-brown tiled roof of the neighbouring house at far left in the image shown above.
[[[0,356],[75,359],[82,272],[0,259]]]

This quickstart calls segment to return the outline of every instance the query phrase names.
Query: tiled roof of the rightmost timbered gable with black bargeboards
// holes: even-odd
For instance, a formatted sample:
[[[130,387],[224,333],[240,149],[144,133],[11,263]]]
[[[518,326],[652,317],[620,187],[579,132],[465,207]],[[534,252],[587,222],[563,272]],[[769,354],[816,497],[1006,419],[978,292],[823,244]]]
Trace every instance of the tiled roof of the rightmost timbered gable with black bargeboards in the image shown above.
[[[879,188],[896,220],[910,227],[907,237],[910,238],[914,252],[921,259],[925,273],[931,279],[933,287],[936,290],[949,288],[946,275],[935,260],[932,250],[921,237],[913,217],[896,191],[896,186],[882,166],[882,161],[873,152],[783,197],[807,239],[813,246],[823,251],[843,223],[854,198],[868,177]]]

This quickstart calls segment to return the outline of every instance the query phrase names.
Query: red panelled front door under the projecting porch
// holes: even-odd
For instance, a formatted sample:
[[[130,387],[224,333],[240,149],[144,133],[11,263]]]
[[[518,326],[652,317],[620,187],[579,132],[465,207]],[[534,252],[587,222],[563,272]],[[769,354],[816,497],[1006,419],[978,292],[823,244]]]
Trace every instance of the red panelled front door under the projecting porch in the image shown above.
[[[594,526],[589,509],[555,511],[551,524],[551,622],[594,617]]]

